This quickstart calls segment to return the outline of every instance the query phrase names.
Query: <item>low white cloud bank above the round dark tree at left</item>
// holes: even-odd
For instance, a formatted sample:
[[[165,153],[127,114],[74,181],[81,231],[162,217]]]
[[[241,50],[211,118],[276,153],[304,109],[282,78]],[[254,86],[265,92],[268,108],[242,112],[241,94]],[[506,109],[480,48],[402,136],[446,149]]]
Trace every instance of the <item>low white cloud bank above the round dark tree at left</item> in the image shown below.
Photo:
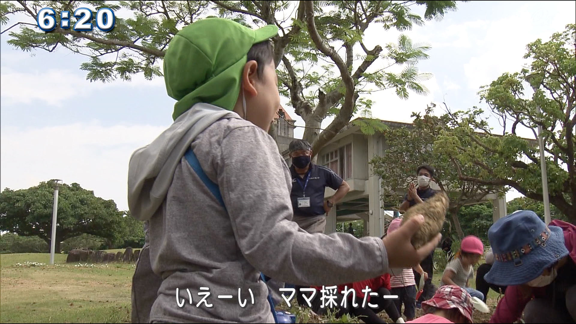
[[[3,127],[0,187],[26,189],[41,181],[62,179],[93,190],[97,197],[113,199],[119,209],[126,210],[130,156],[166,127],[103,127],[96,122],[40,129]]]

